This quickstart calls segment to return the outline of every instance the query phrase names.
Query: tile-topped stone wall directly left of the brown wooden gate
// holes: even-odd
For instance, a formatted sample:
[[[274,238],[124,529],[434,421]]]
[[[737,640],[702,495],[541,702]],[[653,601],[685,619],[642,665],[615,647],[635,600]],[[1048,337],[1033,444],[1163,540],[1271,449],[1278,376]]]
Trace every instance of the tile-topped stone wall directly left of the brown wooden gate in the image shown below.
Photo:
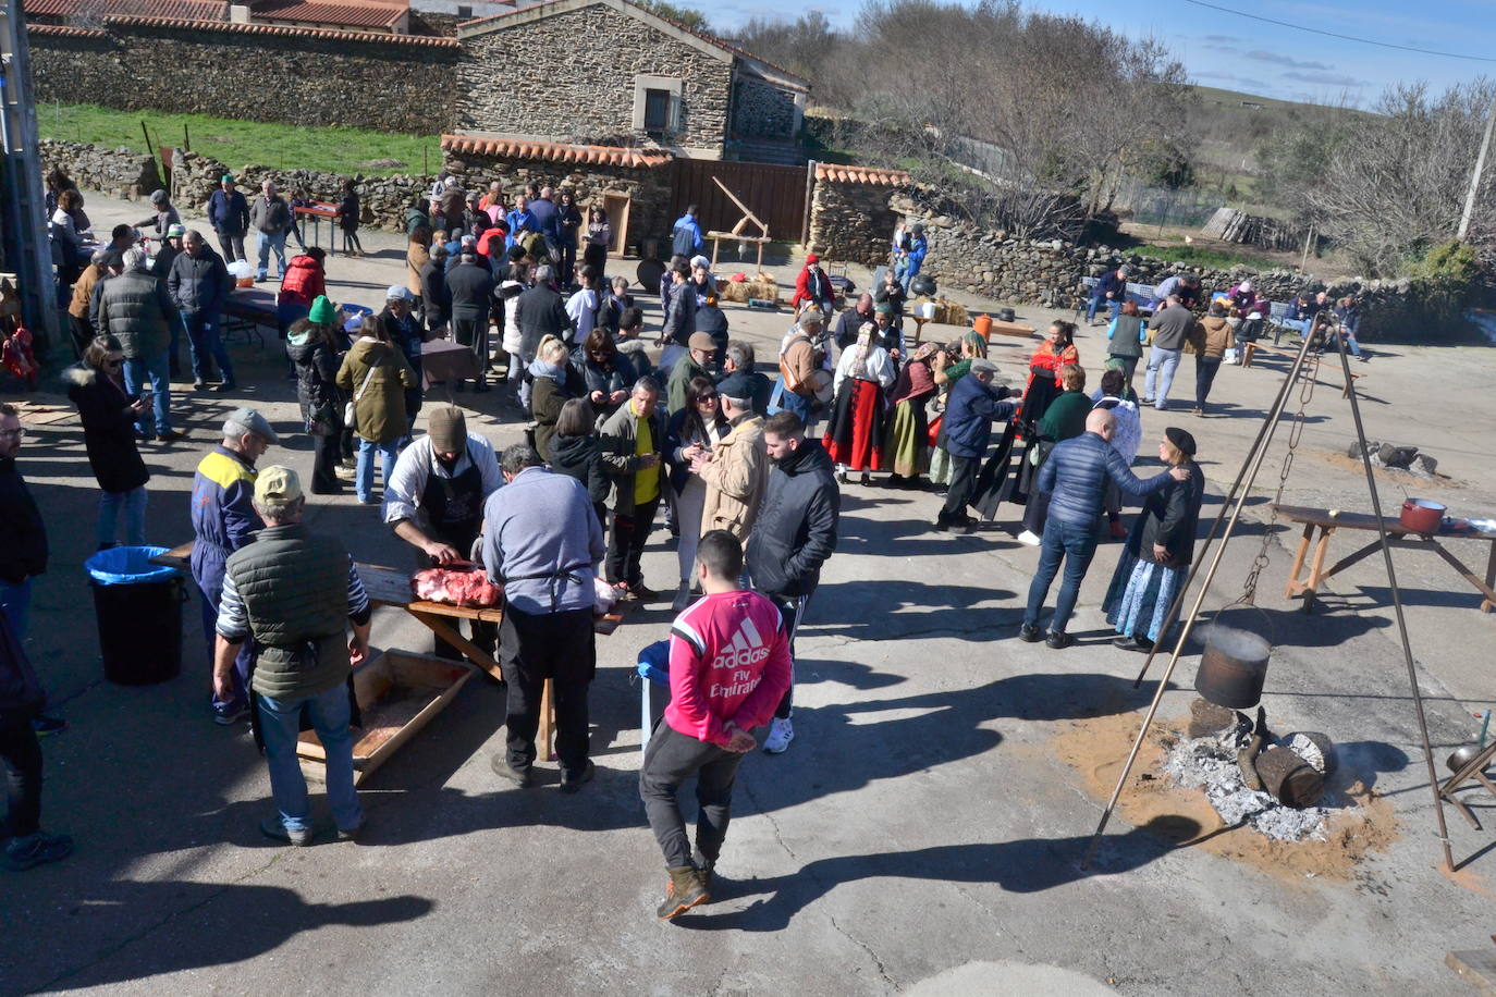
[[[543,160],[516,160],[504,155],[452,154],[444,161],[444,169],[455,176],[467,190],[488,190],[495,179],[504,188],[506,202],[515,194],[524,193],[528,182],[557,191],[570,190],[576,203],[582,208],[583,218],[586,206],[594,197],[603,194],[622,194],[631,197],[628,209],[628,251],[636,251],[639,239],[658,236],[669,232],[670,223],[670,178],[675,172],[669,166],[657,167],[624,167],[601,164],[549,163]],[[618,220],[613,220],[618,224]]]

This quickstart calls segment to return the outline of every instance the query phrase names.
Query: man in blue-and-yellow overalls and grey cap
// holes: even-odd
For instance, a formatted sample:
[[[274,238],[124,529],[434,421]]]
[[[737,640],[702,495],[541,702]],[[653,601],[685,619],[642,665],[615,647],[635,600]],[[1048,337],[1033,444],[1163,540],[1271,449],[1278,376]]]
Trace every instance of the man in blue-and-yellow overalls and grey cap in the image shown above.
[[[209,649],[217,634],[223,568],[233,552],[265,528],[254,511],[254,462],[277,442],[280,436],[263,416],[253,408],[236,408],[223,423],[223,442],[197,462],[191,480],[191,577],[202,596],[202,628]],[[245,640],[238,646],[232,682],[221,695],[214,683],[214,722],[227,726],[244,717],[253,661],[254,644]]]

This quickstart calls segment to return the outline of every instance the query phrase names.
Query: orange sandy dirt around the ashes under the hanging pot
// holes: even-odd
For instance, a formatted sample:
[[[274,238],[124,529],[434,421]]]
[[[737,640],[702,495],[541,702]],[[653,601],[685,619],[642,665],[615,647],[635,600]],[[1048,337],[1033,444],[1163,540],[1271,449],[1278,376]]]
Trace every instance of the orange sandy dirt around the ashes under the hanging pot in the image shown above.
[[[1089,795],[1106,803],[1141,722],[1137,713],[1071,720],[1056,732],[1053,752],[1080,773]],[[1354,771],[1336,773],[1331,780],[1334,792],[1327,795],[1342,800],[1345,810],[1327,821],[1322,842],[1275,842],[1249,827],[1225,827],[1204,792],[1183,789],[1162,774],[1164,755],[1182,737],[1186,722],[1155,720],[1149,729],[1118,800],[1118,813],[1132,827],[1150,824],[1167,840],[1294,883],[1306,877],[1349,882],[1367,852],[1385,852],[1399,839],[1391,804],[1366,789]],[[1180,833],[1170,834],[1168,828]]]

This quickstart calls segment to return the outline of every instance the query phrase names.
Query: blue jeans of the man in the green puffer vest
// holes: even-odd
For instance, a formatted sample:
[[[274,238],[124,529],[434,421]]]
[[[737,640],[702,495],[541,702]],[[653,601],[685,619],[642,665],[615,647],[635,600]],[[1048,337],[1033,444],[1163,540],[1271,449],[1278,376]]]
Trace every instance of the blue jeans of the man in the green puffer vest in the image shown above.
[[[296,700],[256,697],[260,712],[260,735],[265,738],[265,764],[271,770],[271,795],[287,831],[311,828],[307,804],[307,779],[296,761],[296,738],[301,734],[301,712],[307,710],[311,728],[317,731],[328,752],[328,803],[338,828],[352,831],[364,822],[359,794],[353,789],[353,734],[349,731],[349,686],[338,683],[326,692]]]

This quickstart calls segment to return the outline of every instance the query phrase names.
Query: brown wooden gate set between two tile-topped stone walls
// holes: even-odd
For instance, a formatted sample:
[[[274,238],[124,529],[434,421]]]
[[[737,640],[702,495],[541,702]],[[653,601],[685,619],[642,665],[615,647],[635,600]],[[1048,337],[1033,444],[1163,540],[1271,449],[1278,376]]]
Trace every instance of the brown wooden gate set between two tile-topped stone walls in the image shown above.
[[[799,242],[805,224],[805,166],[678,158],[670,221],[685,214],[687,205],[696,205],[702,232],[732,229],[744,212],[712,182],[715,176],[769,226],[769,238]]]

